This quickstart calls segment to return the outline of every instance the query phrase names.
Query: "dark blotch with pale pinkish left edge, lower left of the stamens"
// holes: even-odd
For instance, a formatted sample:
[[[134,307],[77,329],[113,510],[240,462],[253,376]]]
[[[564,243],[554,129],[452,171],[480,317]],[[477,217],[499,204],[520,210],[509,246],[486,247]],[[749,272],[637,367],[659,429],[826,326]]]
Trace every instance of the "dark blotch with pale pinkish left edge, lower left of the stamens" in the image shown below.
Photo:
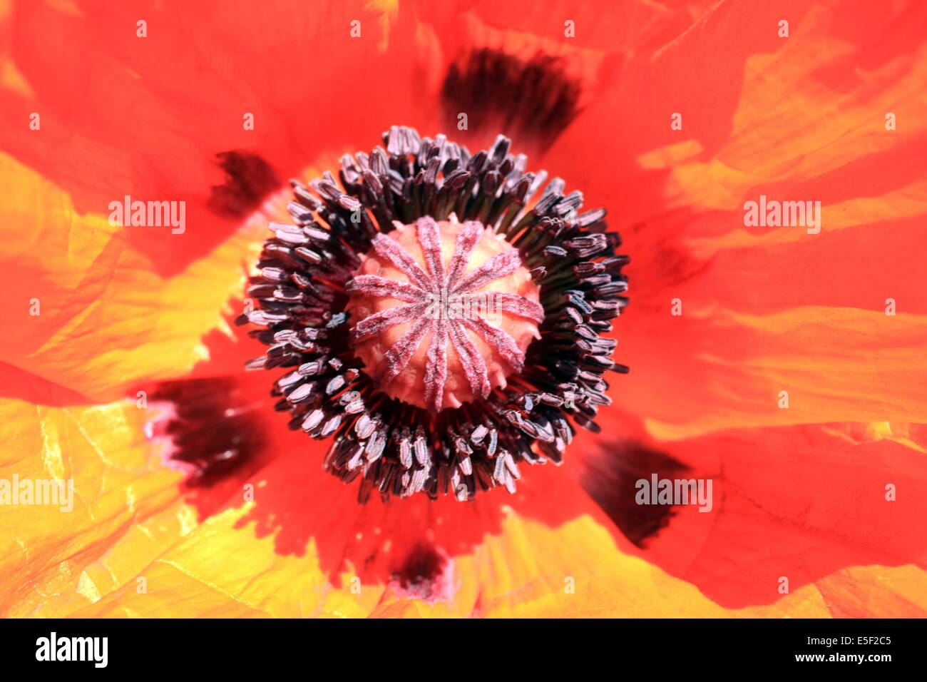
[[[164,434],[174,444],[171,459],[196,468],[188,485],[218,483],[264,445],[258,411],[233,378],[164,382],[149,400],[173,405]]]

